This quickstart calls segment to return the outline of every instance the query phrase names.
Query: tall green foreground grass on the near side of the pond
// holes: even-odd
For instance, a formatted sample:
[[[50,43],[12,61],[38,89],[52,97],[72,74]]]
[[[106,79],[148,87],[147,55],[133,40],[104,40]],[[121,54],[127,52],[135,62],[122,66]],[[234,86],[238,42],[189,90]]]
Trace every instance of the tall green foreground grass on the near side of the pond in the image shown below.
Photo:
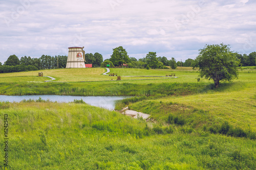
[[[0,103],[9,118],[8,169],[256,168],[254,140],[188,133],[76,103]]]

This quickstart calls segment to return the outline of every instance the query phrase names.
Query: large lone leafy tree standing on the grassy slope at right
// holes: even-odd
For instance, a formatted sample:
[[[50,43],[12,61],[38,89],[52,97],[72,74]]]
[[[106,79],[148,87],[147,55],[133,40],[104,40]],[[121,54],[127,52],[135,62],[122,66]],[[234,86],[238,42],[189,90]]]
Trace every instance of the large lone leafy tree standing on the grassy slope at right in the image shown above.
[[[214,80],[215,87],[219,87],[220,81],[232,81],[238,78],[238,66],[240,61],[237,54],[230,51],[229,45],[213,44],[205,45],[199,50],[193,69],[199,69],[200,78]]]

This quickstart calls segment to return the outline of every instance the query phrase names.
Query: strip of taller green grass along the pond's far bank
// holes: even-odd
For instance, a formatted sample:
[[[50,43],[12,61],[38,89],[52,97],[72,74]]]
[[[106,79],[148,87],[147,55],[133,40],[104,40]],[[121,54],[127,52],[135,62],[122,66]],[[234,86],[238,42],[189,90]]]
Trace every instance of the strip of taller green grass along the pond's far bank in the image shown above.
[[[212,89],[209,83],[148,83],[88,82],[88,83],[0,83],[0,94],[30,95],[188,95]]]

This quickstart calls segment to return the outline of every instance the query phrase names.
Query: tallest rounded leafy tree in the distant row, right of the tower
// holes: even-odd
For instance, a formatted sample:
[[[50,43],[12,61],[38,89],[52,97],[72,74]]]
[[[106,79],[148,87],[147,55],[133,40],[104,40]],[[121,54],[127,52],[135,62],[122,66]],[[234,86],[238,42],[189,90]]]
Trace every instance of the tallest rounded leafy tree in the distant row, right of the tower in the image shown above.
[[[110,61],[115,65],[119,66],[124,63],[129,63],[130,58],[127,55],[127,52],[122,46],[116,47],[113,49],[113,54],[111,55]]]

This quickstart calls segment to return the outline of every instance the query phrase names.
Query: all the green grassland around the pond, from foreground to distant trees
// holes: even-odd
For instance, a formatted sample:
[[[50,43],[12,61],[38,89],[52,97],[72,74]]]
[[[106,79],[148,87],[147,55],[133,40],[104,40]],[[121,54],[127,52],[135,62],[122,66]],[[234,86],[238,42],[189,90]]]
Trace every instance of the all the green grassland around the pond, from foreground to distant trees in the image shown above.
[[[122,80],[111,81],[104,68],[0,74],[0,94],[131,95],[116,108],[151,114],[134,119],[83,101],[0,102],[2,156],[8,114],[6,169],[256,169],[255,67],[218,89],[197,82],[190,67],[110,70]],[[41,71],[56,82],[37,77]],[[178,78],[124,77],[170,73]]]

